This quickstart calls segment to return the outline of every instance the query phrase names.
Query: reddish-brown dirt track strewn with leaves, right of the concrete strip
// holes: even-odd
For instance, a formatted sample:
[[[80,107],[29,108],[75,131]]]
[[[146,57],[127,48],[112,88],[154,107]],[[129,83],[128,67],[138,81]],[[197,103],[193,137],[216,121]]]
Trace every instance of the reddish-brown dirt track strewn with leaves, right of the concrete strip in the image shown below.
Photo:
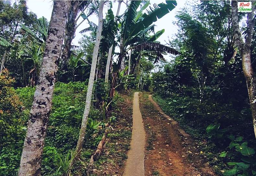
[[[197,144],[145,93],[140,94],[140,110],[147,134],[145,176],[214,175]]]

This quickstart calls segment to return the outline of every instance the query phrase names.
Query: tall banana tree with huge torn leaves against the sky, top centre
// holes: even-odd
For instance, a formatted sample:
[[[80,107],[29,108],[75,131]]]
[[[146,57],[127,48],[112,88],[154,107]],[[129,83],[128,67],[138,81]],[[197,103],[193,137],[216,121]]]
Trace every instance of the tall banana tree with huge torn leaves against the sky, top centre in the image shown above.
[[[130,49],[136,48],[138,45],[148,46],[148,44],[144,44],[144,42],[148,41],[152,41],[151,45],[154,45],[154,41],[161,33],[163,33],[163,31],[159,31],[154,36],[148,37],[148,33],[154,31],[155,25],[153,23],[156,22],[157,19],[168,14],[177,5],[176,1],[166,1],[166,4],[154,4],[153,7],[150,7],[149,10],[147,10],[147,12],[143,13],[143,10],[148,7],[149,3],[147,2],[139,11],[137,11],[140,4],[141,1],[131,1],[123,14],[121,29],[118,36],[120,53],[117,58],[117,67],[119,71],[121,69],[123,58]],[[158,47],[160,47],[160,45],[158,45]],[[154,49],[153,47],[148,48]],[[144,48],[142,47],[142,49]],[[157,49],[159,48],[155,48],[154,50],[156,51]],[[171,50],[166,49],[166,52],[168,51]],[[114,96],[117,75],[117,72],[112,73],[110,97]]]

